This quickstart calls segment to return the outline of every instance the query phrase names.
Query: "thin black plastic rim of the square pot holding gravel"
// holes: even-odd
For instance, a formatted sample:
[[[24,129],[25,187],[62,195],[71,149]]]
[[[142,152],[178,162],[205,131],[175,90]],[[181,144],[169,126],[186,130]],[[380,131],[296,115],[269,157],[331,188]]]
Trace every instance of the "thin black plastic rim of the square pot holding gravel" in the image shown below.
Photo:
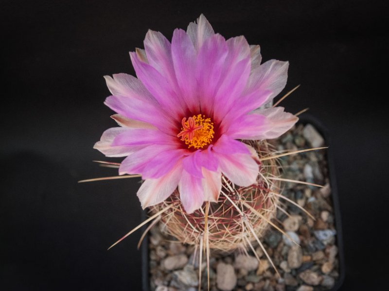
[[[328,134],[328,130],[318,121],[317,118],[309,114],[303,114],[300,117],[298,124],[312,124],[318,132],[322,135],[325,140],[325,145],[328,146],[327,151],[327,162],[328,162],[328,172],[331,185],[331,198],[333,201],[334,214],[335,214],[335,226],[336,226],[336,246],[338,248],[338,262],[339,262],[339,277],[337,278],[334,287],[331,291],[336,291],[343,284],[345,277],[345,263],[344,263],[344,252],[343,252],[343,237],[342,237],[342,223],[340,216],[339,200],[337,194],[336,186],[336,175],[335,175],[335,161],[331,149],[331,140]],[[142,212],[142,221],[147,219],[147,212]],[[147,226],[142,227],[142,231],[146,229]],[[151,291],[149,283],[149,250],[148,250],[148,236],[145,237],[141,245],[141,255],[142,255],[142,291]]]

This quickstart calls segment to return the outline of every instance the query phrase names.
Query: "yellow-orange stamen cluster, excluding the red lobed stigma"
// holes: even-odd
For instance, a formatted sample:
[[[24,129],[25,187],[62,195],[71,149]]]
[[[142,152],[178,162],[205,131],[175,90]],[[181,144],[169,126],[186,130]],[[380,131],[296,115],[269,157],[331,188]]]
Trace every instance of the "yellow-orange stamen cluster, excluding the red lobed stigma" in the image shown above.
[[[193,138],[190,139],[190,136],[185,135],[183,141],[188,148],[203,148],[204,146],[208,146],[211,144],[213,135],[215,131],[213,130],[213,122],[211,122],[211,118],[205,118],[205,115],[197,114],[192,117],[195,120],[195,127],[201,127],[195,129]],[[189,120],[185,122],[186,127],[189,127]],[[181,132],[185,129],[182,127]]]

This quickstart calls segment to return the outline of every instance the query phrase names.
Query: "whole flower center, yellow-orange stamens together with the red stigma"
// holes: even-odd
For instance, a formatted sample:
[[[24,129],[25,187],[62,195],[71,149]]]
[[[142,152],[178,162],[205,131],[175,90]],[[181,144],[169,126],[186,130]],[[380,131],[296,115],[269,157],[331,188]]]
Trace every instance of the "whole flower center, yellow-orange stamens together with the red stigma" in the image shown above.
[[[215,131],[211,118],[197,114],[189,117],[188,121],[186,121],[186,117],[182,118],[181,124],[182,128],[177,137],[180,137],[181,141],[188,145],[188,148],[203,148],[212,142]]]

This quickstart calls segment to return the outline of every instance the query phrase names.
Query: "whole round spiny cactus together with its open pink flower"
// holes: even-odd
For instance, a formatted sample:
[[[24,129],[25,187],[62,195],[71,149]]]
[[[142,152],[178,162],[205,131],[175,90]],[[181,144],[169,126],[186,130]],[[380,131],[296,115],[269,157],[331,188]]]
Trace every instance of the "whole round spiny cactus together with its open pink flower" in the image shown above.
[[[150,217],[118,242],[160,222],[162,231],[194,244],[200,258],[206,251],[208,264],[211,249],[246,251],[256,244],[271,262],[261,243],[266,229],[288,236],[272,222],[279,200],[288,200],[280,194],[277,158],[306,151],[277,153],[266,142],[298,120],[299,113],[276,107],[297,87],[264,106],[283,90],[288,62],[260,65],[259,46],[243,36],[226,41],[203,15],[187,32],[177,29],[172,43],[149,31],[144,44],[130,53],[139,79],[106,76],[112,96],[105,103],[120,127],[95,145],[108,157],[126,156],[103,163],[127,175],[99,179],[144,179],[138,197]]]

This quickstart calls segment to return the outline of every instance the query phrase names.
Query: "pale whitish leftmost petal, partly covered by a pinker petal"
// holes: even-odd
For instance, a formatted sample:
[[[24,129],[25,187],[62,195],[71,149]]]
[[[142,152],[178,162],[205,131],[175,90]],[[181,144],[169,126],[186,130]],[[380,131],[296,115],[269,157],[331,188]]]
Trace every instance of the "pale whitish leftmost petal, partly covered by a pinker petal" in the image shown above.
[[[127,132],[126,128],[111,128],[104,131],[99,142],[93,148],[101,151],[107,157],[124,157],[133,153],[139,147],[134,146],[112,146],[113,140],[121,133]]]

